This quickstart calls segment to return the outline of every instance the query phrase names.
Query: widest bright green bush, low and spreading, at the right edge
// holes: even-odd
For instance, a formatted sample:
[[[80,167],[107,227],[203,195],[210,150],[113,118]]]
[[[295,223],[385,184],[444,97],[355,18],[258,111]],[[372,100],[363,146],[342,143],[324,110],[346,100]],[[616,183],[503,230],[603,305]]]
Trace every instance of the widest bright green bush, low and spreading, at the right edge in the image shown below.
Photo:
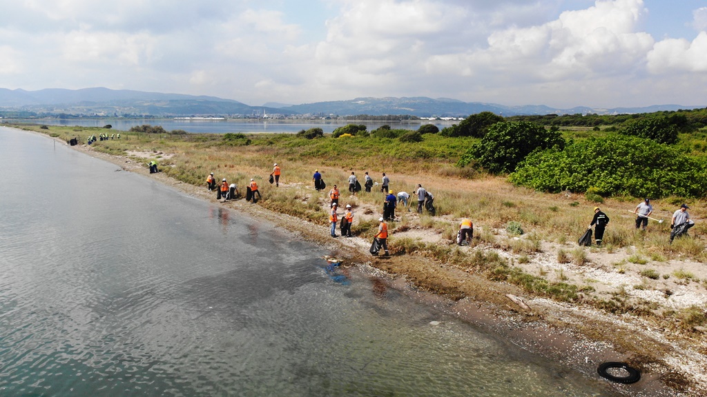
[[[707,165],[650,139],[611,134],[533,153],[510,174],[539,191],[588,191],[602,196],[701,197]]]

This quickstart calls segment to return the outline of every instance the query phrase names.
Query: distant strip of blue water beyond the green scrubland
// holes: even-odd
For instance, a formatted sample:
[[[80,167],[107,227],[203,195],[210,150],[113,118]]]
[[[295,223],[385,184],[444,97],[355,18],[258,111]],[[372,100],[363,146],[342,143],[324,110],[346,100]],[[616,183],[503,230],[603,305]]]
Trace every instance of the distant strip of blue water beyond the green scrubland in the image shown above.
[[[226,134],[226,133],[284,133],[296,134],[303,129],[318,127],[325,133],[331,133],[334,129],[346,124],[364,124],[368,131],[373,131],[383,124],[389,124],[392,128],[399,129],[419,129],[422,124],[435,124],[439,129],[450,126],[453,122],[419,120],[414,122],[345,122],[340,120],[257,120],[257,119],[5,119],[3,122],[18,122],[31,124],[47,124],[50,126],[85,126],[103,127],[107,124],[112,126],[112,130],[129,131],[134,126],[150,124],[152,126],[162,126],[166,131],[184,130],[194,134]]]

